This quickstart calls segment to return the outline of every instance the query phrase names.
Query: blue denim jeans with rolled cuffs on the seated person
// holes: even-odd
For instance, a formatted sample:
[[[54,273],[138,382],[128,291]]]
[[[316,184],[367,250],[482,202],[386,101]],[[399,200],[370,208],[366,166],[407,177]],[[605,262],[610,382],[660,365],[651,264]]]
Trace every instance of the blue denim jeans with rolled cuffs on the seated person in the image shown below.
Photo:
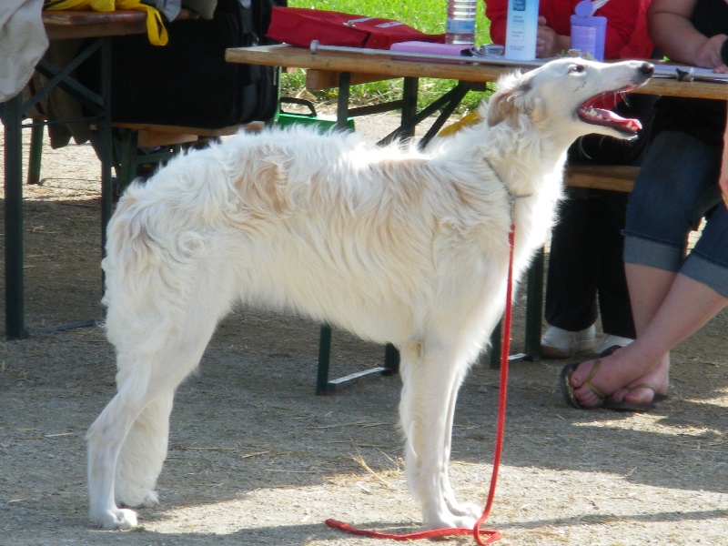
[[[680,272],[728,297],[728,210],[718,177],[722,149],[693,136],[655,137],[627,207],[624,262]],[[687,253],[691,230],[706,222]]]

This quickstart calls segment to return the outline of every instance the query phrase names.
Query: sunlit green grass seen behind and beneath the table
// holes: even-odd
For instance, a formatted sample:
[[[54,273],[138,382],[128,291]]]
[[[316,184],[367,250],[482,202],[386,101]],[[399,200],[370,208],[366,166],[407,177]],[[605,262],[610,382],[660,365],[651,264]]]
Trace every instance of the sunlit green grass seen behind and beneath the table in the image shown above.
[[[395,19],[410,25],[428,34],[442,34],[445,32],[447,15],[446,0],[420,0],[418,2],[395,3],[381,0],[288,0],[290,7],[312,7],[321,10],[338,11],[353,15],[376,15],[388,19]],[[476,19],[476,44],[490,42],[488,35],[489,22],[485,18],[485,5],[479,1],[478,17]],[[283,96],[298,96],[305,87],[306,76],[303,70],[284,74],[281,80],[281,93]],[[453,80],[440,80],[435,78],[420,79],[420,107],[430,104],[432,100],[452,88],[456,82]],[[354,104],[365,105],[384,100],[396,100],[401,96],[402,80],[393,79],[373,82],[351,88],[351,101]],[[311,91],[316,102],[331,103],[336,100],[336,89],[327,91]],[[478,106],[482,93],[470,92],[463,99],[459,113],[466,113]]]

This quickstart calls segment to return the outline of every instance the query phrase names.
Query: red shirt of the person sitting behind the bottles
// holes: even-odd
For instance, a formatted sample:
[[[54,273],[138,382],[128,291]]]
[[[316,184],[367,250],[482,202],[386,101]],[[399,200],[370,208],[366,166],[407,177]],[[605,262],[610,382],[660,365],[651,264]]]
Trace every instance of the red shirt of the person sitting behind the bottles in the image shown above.
[[[557,34],[571,35],[571,15],[580,0],[541,0],[539,15]],[[609,0],[594,15],[607,18],[604,58],[646,59],[653,45],[647,35],[645,13],[650,0]],[[490,20],[490,39],[504,45],[508,0],[485,0],[485,16]]]

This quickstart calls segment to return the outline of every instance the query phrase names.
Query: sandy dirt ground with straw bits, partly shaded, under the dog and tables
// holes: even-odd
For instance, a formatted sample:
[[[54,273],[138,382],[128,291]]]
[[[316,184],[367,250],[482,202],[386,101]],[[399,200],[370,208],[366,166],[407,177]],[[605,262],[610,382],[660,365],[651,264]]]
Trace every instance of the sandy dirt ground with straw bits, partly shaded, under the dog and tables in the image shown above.
[[[383,136],[390,121],[358,121],[359,130]],[[25,187],[30,329],[101,317],[98,170],[88,146],[46,148],[43,185]],[[522,312],[521,296],[514,351]],[[557,386],[564,362],[513,362],[487,522],[499,543],[725,544],[726,321],[723,312],[674,350],[671,398],[647,414],[571,410]],[[363,546],[394,542],[324,521],[416,529],[400,459],[399,378],[369,376],[315,396],[318,334],[308,320],[245,310],[224,321],[178,391],[161,504],[140,511],[132,531],[97,531],[86,519],[84,434],[115,391],[101,329],[0,342],[0,544]],[[382,356],[334,333],[336,377]],[[450,473],[460,499],[484,503],[499,372],[481,360],[461,390]]]

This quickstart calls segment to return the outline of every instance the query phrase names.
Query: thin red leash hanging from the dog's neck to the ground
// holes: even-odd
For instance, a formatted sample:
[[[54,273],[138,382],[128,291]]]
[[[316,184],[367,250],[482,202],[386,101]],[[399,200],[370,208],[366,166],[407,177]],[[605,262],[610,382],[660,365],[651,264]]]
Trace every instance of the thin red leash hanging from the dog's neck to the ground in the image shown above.
[[[490,515],[490,508],[495,498],[495,486],[498,480],[498,470],[501,466],[501,452],[503,450],[503,430],[506,422],[506,389],[508,386],[508,355],[511,350],[511,314],[512,314],[512,292],[513,292],[513,245],[515,239],[515,227],[511,227],[511,233],[508,236],[511,245],[511,256],[508,263],[508,284],[506,285],[506,310],[503,317],[503,339],[501,343],[501,393],[498,399],[498,429],[495,438],[495,453],[493,455],[493,471],[490,475],[490,490],[488,490],[488,501],[485,503],[485,509],[480,519],[475,523],[472,529],[452,528],[452,529],[432,529],[430,531],[410,532],[406,534],[395,534],[379,531],[364,531],[352,527],[348,523],[336,520],[327,520],[326,524],[334,529],[347,531],[353,534],[370,537],[372,539],[389,539],[391,541],[417,541],[419,539],[434,539],[440,537],[450,537],[454,535],[471,534],[475,542],[480,546],[491,544],[492,542],[501,540],[500,531],[481,530],[480,526],[485,523]],[[480,536],[486,535],[486,539]]]

